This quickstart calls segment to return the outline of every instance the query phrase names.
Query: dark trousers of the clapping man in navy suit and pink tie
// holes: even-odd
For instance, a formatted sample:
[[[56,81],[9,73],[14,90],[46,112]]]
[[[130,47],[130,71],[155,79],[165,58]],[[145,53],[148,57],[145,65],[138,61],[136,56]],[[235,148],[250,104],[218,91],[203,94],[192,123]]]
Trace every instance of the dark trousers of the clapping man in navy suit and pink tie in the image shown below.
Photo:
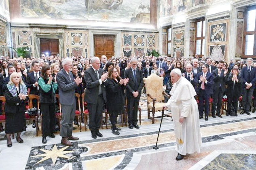
[[[205,90],[200,89],[199,91],[199,115],[200,116],[203,116],[203,100],[205,101],[205,116],[208,116],[210,95],[207,95],[205,93]]]

